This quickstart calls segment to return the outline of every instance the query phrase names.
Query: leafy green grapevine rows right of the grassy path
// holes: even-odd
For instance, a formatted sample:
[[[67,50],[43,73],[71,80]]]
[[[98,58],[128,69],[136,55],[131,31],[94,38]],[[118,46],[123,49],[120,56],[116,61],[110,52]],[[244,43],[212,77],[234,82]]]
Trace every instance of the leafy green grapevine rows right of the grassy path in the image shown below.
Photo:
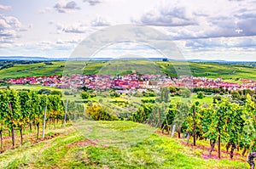
[[[166,104],[143,104],[131,117],[133,121],[148,123],[160,127],[161,131],[178,138],[193,137],[193,145],[197,140],[208,140],[211,146],[209,157],[215,144],[218,144],[218,159],[221,158],[221,146],[230,151],[230,159],[234,151],[241,150],[241,155],[247,154],[247,162],[254,167],[253,159],[256,152],[256,107],[252,98],[247,94],[244,104],[230,102],[229,99],[215,100],[215,104],[186,104],[171,103],[165,110]],[[161,110],[162,109],[162,110]],[[164,118],[163,118],[164,116]]]

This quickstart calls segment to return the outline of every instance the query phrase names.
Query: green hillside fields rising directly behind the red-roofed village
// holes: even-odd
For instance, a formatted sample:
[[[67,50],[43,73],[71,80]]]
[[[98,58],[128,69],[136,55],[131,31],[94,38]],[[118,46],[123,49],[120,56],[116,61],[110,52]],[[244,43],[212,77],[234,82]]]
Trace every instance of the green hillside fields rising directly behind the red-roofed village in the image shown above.
[[[50,76],[62,75],[65,73],[84,73],[84,74],[109,74],[122,75],[137,71],[141,74],[159,74],[165,73],[169,76],[177,76],[177,71],[181,75],[207,76],[209,78],[218,78],[230,82],[237,81],[239,78],[256,79],[255,67],[247,64],[232,65],[218,63],[199,63],[189,62],[163,62],[150,60],[113,60],[113,61],[53,61],[52,65],[37,63],[31,65],[14,65],[13,67],[0,70],[0,79],[24,76]],[[66,66],[67,65],[67,66]],[[176,71],[177,70],[177,71]]]

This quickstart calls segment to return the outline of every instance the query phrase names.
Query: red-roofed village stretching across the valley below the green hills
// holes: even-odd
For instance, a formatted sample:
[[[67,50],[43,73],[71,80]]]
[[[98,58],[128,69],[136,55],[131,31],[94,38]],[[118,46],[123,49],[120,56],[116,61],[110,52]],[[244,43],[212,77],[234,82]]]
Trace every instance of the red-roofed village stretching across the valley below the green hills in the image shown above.
[[[256,89],[254,80],[239,79],[241,83],[224,82],[221,77],[211,79],[201,76],[169,77],[166,75],[137,75],[136,73],[124,76],[109,75],[72,75],[72,76],[28,76],[25,78],[10,78],[12,85],[40,85],[44,87],[91,89],[115,88],[125,89],[159,89],[160,87],[201,87],[224,88],[227,90]]]

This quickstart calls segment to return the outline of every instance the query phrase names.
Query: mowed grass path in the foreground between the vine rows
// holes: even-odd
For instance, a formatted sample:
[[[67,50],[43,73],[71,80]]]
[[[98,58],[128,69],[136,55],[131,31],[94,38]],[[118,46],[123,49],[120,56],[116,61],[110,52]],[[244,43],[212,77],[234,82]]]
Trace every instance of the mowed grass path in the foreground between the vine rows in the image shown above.
[[[0,167],[248,168],[241,161],[204,160],[197,149],[154,131],[131,121],[80,121],[56,138],[5,151]]]

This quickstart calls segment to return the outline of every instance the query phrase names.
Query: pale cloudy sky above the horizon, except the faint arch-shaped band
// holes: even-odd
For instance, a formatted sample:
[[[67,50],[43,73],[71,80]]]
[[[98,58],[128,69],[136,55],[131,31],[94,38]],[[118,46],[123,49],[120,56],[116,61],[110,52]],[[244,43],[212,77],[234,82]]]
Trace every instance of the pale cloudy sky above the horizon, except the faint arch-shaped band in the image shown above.
[[[185,59],[256,61],[255,0],[0,0],[0,55],[69,57],[109,26],[160,31]],[[134,42],[99,56],[157,53]]]

